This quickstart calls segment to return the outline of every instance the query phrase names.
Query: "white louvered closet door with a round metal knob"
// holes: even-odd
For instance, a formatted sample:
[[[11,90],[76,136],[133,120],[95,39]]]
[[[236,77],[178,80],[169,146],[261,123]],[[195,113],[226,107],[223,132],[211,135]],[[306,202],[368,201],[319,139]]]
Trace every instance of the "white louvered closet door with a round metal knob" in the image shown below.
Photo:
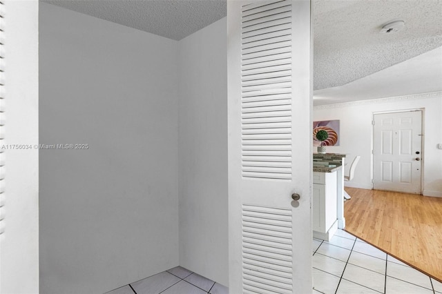
[[[310,1],[227,6],[229,292],[310,293]]]

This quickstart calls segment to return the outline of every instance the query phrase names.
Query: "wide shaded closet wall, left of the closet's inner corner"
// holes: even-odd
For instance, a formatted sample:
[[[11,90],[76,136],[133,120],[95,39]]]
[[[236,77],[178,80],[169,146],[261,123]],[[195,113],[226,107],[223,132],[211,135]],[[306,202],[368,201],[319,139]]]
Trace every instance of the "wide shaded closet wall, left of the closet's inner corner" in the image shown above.
[[[177,266],[177,41],[41,3],[40,292]]]

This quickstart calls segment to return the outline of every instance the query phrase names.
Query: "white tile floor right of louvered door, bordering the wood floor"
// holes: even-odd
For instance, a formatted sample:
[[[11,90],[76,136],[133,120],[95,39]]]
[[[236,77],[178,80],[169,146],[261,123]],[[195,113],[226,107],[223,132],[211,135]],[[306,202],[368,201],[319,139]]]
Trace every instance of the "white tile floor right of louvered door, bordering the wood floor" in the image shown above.
[[[343,230],[312,246],[314,293],[442,293],[442,283]]]

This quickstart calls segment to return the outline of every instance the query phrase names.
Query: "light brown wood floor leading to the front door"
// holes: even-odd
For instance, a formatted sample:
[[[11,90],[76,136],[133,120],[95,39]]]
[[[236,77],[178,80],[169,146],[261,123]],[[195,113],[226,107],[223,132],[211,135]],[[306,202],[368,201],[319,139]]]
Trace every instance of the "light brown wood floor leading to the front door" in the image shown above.
[[[442,282],[442,198],[345,190],[345,231]]]

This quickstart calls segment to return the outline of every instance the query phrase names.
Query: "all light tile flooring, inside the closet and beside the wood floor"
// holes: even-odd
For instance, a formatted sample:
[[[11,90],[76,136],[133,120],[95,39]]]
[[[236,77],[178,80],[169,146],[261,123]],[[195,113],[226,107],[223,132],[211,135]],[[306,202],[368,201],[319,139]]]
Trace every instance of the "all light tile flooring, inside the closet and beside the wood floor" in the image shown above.
[[[349,233],[313,239],[313,293],[442,294],[442,283]],[[181,266],[106,294],[228,294],[229,289]],[[231,293],[236,294],[236,293]]]

